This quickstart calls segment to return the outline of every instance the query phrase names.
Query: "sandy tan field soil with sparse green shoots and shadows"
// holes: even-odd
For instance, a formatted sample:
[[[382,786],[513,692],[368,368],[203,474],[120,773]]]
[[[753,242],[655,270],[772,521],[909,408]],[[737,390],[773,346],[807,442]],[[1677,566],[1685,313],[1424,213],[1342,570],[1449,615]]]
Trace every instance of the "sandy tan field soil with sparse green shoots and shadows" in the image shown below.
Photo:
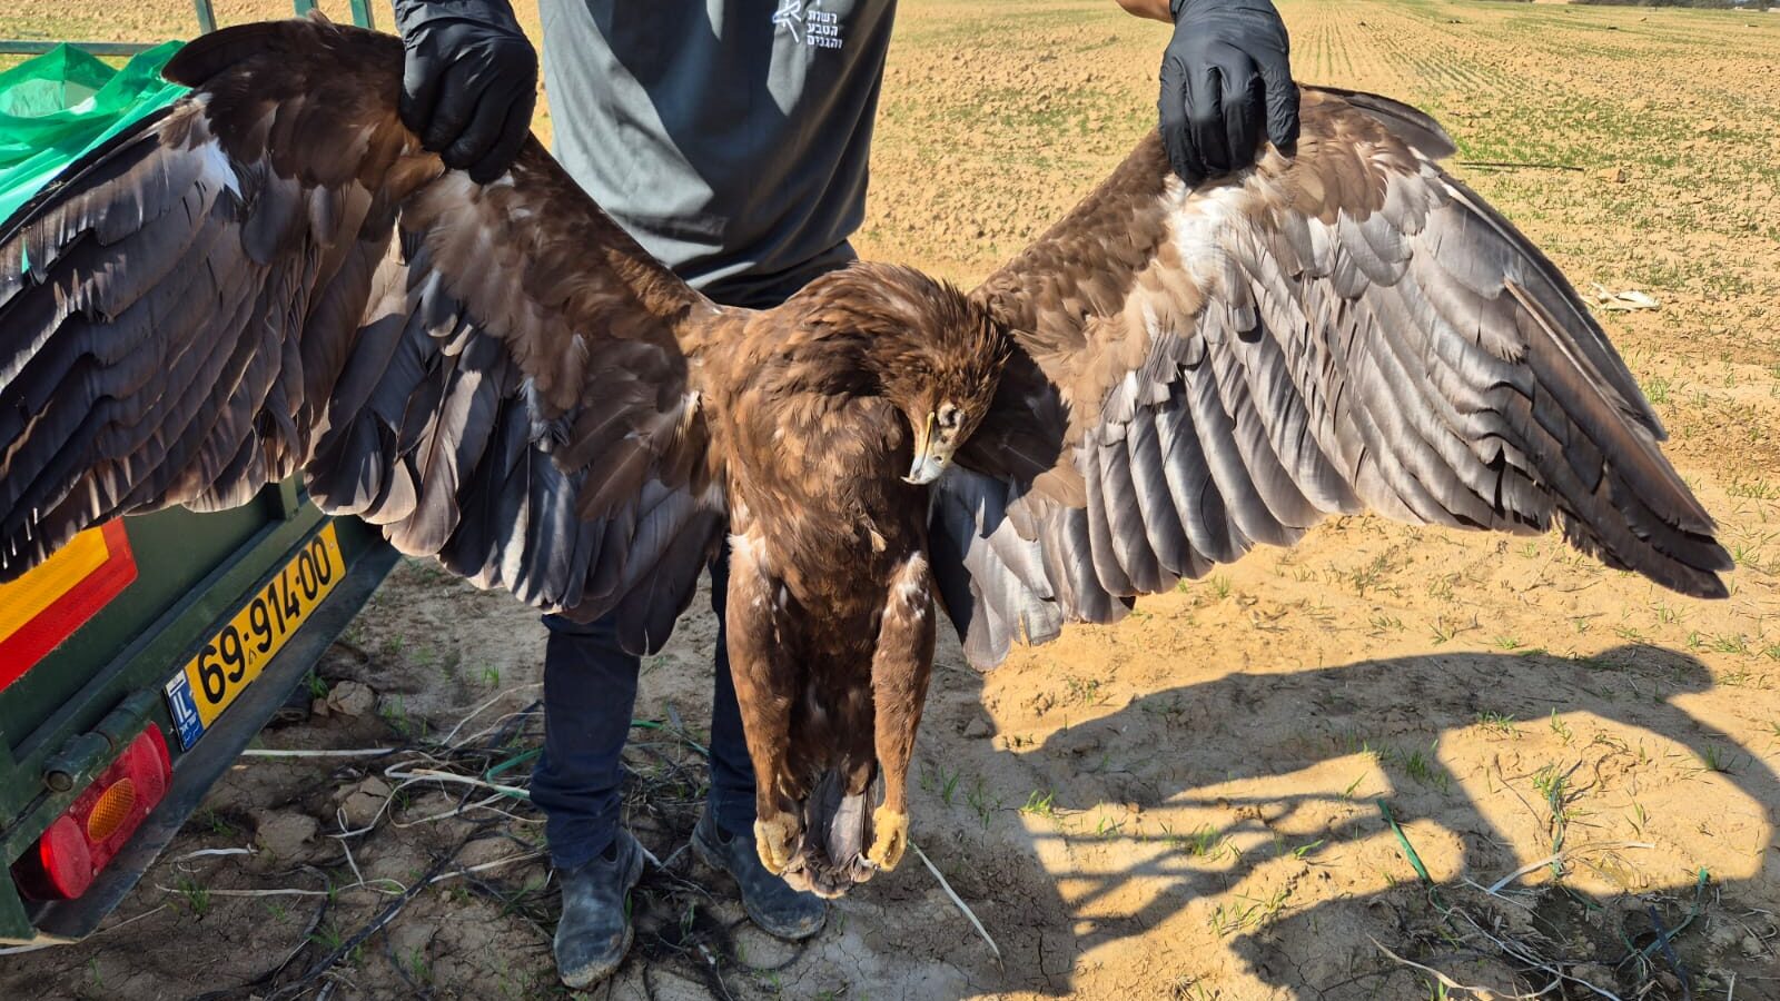
[[[913,857],[787,948],[676,855],[701,600],[644,666],[632,819],[668,867],[596,996],[1444,996],[1415,962],[1499,996],[1561,973],[1549,996],[1780,997],[1780,18],[1282,7],[1301,78],[1436,112],[1467,180],[1579,287],[1663,303],[1606,322],[1721,518],[1732,598],[1677,598],[1556,538],[1351,518],[986,677],[945,643],[913,839],[1000,964]],[[1098,0],[904,0],[862,251],[986,274],[1150,126],[1162,41]],[[372,818],[415,768],[481,777],[534,746],[541,652],[516,602],[400,568],[317,668],[361,714],[297,712],[263,746],[406,750],[244,759],[105,932],[0,958],[0,992],[559,996],[534,810],[417,782]],[[351,705],[342,682],[374,695]],[[326,887],[351,889],[288,892]],[[230,896],[269,891],[287,896]]]

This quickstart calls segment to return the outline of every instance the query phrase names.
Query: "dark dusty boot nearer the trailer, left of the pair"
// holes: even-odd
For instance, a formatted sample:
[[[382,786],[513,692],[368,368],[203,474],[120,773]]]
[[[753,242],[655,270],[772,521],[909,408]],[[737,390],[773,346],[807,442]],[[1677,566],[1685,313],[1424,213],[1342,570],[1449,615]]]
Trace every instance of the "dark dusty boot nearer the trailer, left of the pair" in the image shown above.
[[[557,974],[570,989],[593,987],[625,962],[630,951],[630,908],[625,898],[643,878],[643,846],[618,830],[614,859],[596,855],[573,869],[557,869],[562,883],[562,919],[557,923]]]

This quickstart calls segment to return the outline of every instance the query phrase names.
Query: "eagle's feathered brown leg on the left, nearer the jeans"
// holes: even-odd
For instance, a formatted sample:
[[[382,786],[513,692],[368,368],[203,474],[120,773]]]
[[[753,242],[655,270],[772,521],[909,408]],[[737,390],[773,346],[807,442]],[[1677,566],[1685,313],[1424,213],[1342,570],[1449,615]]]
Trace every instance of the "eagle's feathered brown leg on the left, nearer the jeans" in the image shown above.
[[[778,875],[797,857],[803,819],[796,782],[785,755],[790,748],[790,707],[796,671],[783,663],[774,636],[776,604],[773,577],[760,561],[758,545],[735,541],[730,550],[728,647],[735,702],[742,711],[742,736],[755,764],[755,851],[767,871]]]

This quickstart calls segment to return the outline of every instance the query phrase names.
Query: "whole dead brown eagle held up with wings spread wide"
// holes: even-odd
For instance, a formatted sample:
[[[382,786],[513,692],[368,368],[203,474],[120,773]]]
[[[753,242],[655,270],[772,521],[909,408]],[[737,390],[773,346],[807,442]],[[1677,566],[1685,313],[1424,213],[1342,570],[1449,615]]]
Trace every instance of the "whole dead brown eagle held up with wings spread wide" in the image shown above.
[[[486,187],[400,43],[249,25],[0,233],[0,579],[303,470],[481,586],[655,650],[733,533],[756,842],[897,864],[934,591],[977,664],[1326,515],[1540,533],[1723,595],[1712,520],[1570,283],[1383,98],[1185,189],[1137,150],[970,296],[856,265],[719,308],[536,142]],[[865,809],[878,769],[885,800]]]

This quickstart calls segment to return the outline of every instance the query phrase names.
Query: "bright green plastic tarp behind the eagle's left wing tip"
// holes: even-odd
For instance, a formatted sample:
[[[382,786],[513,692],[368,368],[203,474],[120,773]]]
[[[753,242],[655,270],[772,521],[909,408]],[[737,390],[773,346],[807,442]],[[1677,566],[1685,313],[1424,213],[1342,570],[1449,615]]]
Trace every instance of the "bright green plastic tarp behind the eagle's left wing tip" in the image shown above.
[[[87,150],[162,109],[185,87],[160,78],[183,43],[169,41],[121,69],[59,45],[0,73],[0,219]]]

